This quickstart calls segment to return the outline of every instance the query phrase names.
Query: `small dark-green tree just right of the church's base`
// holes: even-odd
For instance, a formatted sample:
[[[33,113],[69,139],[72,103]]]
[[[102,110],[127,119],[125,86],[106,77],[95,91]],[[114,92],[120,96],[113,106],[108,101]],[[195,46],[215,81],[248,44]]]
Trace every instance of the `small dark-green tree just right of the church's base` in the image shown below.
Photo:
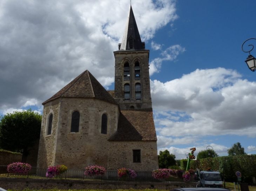
[[[170,166],[176,165],[175,158],[176,156],[170,154],[167,149],[164,151],[160,151],[158,155],[159,168],[168,168]]]

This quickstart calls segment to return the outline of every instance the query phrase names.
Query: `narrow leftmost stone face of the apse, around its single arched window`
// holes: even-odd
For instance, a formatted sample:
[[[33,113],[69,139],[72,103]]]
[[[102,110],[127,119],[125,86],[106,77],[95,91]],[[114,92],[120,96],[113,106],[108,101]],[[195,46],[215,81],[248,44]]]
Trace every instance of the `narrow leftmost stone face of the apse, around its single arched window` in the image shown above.
[[[42,126],[38,150],[37,167],[48,168],[54,163],[57,129],[59,124],[60,98],[46,103],[43,106]],[[48,120],[53,114],[52,134],[47,135]]]

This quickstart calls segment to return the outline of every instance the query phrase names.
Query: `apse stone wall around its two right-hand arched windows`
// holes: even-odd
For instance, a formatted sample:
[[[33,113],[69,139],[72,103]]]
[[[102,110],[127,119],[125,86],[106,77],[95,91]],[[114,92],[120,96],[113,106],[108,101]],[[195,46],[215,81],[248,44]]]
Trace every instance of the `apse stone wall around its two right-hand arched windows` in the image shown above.
[[[79,111],[79,132],[70,132],[71,118]],[[119,106],[95,98],[61,98],[59,128],[54,165],[83,169],[88,165],[106,167],[107,139],[117,131]],[[107,134],[101,133],[101,117],[108,117]]]

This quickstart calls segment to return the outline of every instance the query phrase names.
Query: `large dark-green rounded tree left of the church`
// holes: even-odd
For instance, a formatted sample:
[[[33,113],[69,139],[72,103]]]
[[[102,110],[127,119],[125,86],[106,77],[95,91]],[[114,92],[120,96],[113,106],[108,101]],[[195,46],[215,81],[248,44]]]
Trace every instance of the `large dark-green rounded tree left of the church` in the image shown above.
[[[0,117],[0,148],[22,153],[26,162],[29,147],[40,138],[42,116],[31,109],[14,111]]]

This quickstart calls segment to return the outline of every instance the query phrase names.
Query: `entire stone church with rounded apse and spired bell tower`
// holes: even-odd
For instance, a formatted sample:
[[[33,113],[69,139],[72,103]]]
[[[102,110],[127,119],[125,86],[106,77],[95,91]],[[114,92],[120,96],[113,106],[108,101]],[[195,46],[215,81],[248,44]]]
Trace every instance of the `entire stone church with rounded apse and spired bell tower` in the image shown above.
[[[86,70],[42,103],[38,168],[159,168],[149,50],[141,42],[132,6],[118,47],[115,90],[107,91]]]

